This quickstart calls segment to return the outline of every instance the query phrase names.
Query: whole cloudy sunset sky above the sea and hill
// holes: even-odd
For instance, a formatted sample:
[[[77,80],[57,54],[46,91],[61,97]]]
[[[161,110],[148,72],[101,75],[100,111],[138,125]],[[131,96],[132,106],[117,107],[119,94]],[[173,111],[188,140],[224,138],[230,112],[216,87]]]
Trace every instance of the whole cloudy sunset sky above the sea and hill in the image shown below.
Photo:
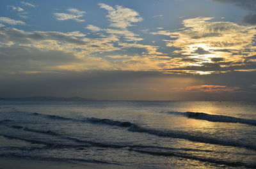
[[[255,0],[1,0],[0,98],[255,94]]]

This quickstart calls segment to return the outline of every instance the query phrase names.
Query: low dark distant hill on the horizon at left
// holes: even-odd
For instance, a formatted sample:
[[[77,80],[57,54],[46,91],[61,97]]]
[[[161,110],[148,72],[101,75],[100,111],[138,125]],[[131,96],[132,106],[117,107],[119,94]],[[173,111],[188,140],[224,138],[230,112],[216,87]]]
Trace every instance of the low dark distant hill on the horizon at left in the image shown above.
[[[0,100],[17,100],[17,101],[88,101],[95,99],[72,97],[72,98],[61,98],[61,97],[52,97],[52,96],[35,96],[28,98],[0,98]]]

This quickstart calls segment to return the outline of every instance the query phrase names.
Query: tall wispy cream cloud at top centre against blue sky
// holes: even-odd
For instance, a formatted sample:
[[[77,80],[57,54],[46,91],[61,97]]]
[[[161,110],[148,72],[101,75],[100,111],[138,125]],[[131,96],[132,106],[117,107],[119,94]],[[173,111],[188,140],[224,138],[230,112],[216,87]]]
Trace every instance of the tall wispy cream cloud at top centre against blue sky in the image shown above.
[[[100,8],[108,11],[107,17],[111,22],[111,27],[117,27],[120,29],[125,29],[132,26],[134,22],[140,22],[143,18],[137,11],[131,10],[129,8],[124,8],[123,6],[116,5],[115,8],[104,3],[99,3]]]

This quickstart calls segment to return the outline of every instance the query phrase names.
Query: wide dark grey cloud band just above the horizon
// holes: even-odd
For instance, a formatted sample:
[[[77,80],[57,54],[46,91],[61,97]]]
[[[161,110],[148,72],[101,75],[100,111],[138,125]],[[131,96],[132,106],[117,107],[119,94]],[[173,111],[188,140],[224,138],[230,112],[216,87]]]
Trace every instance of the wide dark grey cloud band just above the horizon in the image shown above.
[[[239,77],[239,79],[238,79]],[[212,75],[174,75],[145,71],[60,71],[0,75],[1,97],[81,96],[92,99],[252,100],[255,72]],[[237,87],[233,92],[179,90],[195,85]]]

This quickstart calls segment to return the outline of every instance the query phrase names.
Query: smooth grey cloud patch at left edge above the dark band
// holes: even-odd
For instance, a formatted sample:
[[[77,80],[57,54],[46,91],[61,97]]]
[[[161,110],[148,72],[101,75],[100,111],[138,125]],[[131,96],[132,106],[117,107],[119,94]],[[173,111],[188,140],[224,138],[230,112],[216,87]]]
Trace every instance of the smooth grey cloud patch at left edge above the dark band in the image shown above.
[[[44,71],[46,67],[79,62],[79,59],[67,52],[22,46],[0,47],[0,59],[0,70],[10,72]]]

